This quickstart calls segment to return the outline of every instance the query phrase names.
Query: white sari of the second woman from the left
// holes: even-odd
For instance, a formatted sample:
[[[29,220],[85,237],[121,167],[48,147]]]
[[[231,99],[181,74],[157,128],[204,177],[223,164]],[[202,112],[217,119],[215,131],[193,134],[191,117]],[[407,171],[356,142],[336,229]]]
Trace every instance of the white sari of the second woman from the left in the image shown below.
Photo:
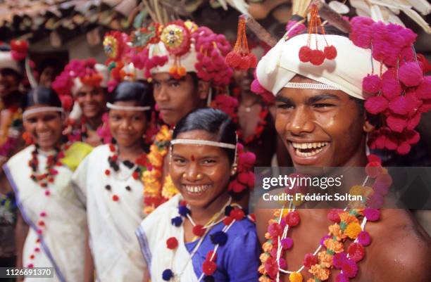
[[[144,218],[144,187],[139,179],[131,177],[132,169],[121,162],[120,171],[113,172],[108,164],[110,155],[108,145],[94,148],[73,174],[73,182],[86,202],[89,244],[98,281],[141,282],[146,264],[135,230]],[[111,170],[109,176],[106,169]]]

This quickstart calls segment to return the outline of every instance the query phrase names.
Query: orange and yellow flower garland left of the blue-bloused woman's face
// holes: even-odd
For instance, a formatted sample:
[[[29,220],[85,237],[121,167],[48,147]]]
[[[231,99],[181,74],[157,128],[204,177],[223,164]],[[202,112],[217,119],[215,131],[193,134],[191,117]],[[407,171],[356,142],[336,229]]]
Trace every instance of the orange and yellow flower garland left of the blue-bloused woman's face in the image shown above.
[[[148,154],[149,169],[142,174],[144,182],[144,213],[151,213],[158,205],[178,193],[170,177],[163,181],[163,162],[168,154],[172,133],[167,125],[162,125]],[[163,181],[163,184],[162,184]]]

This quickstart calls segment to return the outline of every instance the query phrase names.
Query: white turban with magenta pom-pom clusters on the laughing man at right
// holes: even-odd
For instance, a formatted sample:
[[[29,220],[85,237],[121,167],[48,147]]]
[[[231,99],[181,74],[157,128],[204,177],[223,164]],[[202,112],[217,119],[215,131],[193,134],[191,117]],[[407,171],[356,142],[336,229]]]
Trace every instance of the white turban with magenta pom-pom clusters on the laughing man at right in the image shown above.
[[[413,48],[416,34],[400,25],[364,17],[345,21],[349,38],[323,30],[318,34],[323,27],[316,9],[317,5],[311,4],[306,34],[289,34],[300,25],[291,23],[289,35],[262,58],[252,89],[273,95],[284,87],[344,91],[365,100],[366,110],[381,117],[380,128],[368,136],[370,148],[408,153],[419,141],[414,129],[421,114],[431,108],[431,77],[424,77],[427,64],[418,59]],[[290,82],[295,75],[318,83],[296,85]]]

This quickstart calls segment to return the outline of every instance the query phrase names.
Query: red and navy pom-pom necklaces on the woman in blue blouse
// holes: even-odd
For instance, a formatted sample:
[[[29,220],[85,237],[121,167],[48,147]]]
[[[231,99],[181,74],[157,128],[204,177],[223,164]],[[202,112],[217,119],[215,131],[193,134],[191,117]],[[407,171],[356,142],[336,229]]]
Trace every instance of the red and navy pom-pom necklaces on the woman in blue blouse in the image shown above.
[[[227,200],[227,203],[222,207],[220,212],[214,214],[213,218],[206,224],[205,226],[201,224],[194,223],[191,211],[189,207],[187,207],[187,203],[182,200],[180,201],[180,204],[178,205],[178,216],[173,217],[171,219],[171,224],[173,226],[180,227],[182,223],[184,222],[184,218],[187,217],[189,219],[190,223],[193,225],[192,232],[195,236],[200,237],[198,243],[196,244],[196,247],[192,250],[189,259],[187,259],[187,262],[185,263],[184,267],[182,268],[182,271],[180,271],[180,274],[174,274],[172,269],[173,261],[171,261],[171,266],[169,269],[165,269],[162,273],[162,278],[164,281],[170,281],[172,278],[180,278],[185,271],[185,268],[187,267],[187,264],[190,262],[194,254],[196,254],[197,250],[199,250],[199,247],[201,246],[201,243],[204,241],[204,238],[208,234],[208,232],[213,228],[213,226],[219,224],[220,222],[223,222],[225,226],[223,226],[223,229],[221,231],[217,231],[210,235],[211,242],[213,245],[215,245],[214,249],[209,251],[206,254],[205,262],[202,264],[202,274],[199,276],[198,282],[202,281],[214,281],[213,274],[215,270],[217,269],[217,264],[215,264],[215,259],[217,258],[217,250],[220,247],[223,247],[223,245],[227,242],[227,231],[232,227],[232,225],[239,220],[244,219],[245,217],[249,218],[253,221],[253,218],[249,215],[246,215],[246,211],[238,204],[232,204],[232,198],[229,198]],[[220,217],[220,214],[224,211],[224,216],[221,219],[218,219]],[[217,220],[218,219],[218,220]],[[175,255],[175,250],[178,247],[178,240],[175,237],[170,237],[168,240],[166,240],[166,247],[170,250],[173,250]]]

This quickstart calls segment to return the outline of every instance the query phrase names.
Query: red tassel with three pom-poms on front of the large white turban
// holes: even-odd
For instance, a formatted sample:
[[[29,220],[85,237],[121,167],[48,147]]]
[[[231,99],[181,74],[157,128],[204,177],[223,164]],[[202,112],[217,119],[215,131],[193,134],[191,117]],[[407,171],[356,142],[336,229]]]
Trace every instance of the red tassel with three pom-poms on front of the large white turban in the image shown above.
[[[318,28],[320,27],[321,33],[325,38],[325,28],[323,28],[322,21],[320,20],[318,6],[311,4],[310,6],[310,22],[308,23],[308,41],[306,46],[302,46],[299,49],[299,60],[303,63],[310,62],[313,65],[322,65],[325,58],[327,60],[334,60],[337,57],[337,49],[335,46],[327,44],[325,39],[325,49],[318,49],[318,39],[316,37],[316,49],[311,49],[311,34],[318,34]]]

